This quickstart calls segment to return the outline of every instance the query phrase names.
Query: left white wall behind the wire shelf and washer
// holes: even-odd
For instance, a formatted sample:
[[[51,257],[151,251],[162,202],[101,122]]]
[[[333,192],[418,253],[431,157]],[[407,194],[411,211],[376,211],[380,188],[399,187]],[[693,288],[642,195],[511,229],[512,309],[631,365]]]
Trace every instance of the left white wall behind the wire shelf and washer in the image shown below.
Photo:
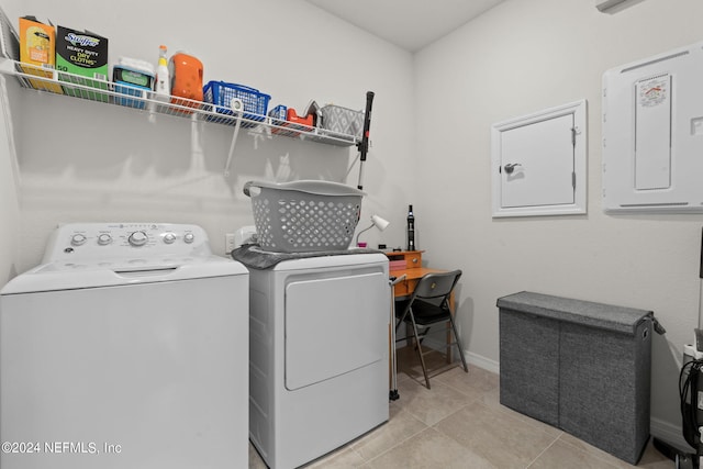
[[[403,183],[411,177],[413,153],[410,53],[298,0],[165,5],[136,0],[100,8],[86,0],[3,4],[12,19],[35,14],[108,37],[111,62],[119,56],[156,62],[159,44],[169,54],[186,51],[202,60],[205,81],[258,88],[271,94],[271,107],[283,103],[302,112],[314,99],[362,110],[366,91],[375,91],[362,224],[376,212],[393,222],[384,238],[378,231],[368,233],[371,245],[402,236],[402,206],[412,190]],[[147,113],[130,109],[19,91],[21,102],[10,109],[24,111],[14,120],[22,147],[16,158],[22,181],[16,188],[22,233],[18,272],[41,260],[57,223],[197,223],[224,254],[224,234],[253,224],[249,199],[242,193],[247,180],[357,185],[358,165],[348,172],[357,155],[354,147],[242,132],[232,174],[224,177],[232,127],[163,115],[150,122]],[[9,175],[12,157],[2,148],[0,155],[0,170]],[[389,179],[390,174],[398,179]],[[8,270],[0,267],[0,272]]]

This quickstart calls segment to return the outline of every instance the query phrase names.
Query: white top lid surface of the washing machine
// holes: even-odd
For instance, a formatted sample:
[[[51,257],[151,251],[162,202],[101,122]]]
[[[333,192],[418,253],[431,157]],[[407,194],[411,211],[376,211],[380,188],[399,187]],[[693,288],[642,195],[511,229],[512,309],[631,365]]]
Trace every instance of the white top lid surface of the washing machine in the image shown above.
[[[241,263],[224,257],[134,258],[44,264],[8,282],[0,294],[130,286],[209,277],[248,276]]]

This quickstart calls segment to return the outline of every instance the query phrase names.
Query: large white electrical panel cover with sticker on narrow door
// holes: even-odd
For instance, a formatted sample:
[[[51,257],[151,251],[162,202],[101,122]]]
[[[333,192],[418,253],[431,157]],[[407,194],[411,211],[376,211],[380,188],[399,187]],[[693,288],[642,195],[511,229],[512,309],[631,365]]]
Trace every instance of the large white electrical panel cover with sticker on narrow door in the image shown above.
[[[703,212],[703,43],[603,75],[603,208]]]

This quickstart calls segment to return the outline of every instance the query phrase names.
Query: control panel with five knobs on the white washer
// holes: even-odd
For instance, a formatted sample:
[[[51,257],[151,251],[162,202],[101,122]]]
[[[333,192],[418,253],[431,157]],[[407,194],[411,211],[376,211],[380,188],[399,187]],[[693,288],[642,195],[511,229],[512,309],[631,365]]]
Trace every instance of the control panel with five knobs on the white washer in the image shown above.
[[[208,235],[198,225],[69,223],[60,225],[52,234],[43,264],[211,255]]]

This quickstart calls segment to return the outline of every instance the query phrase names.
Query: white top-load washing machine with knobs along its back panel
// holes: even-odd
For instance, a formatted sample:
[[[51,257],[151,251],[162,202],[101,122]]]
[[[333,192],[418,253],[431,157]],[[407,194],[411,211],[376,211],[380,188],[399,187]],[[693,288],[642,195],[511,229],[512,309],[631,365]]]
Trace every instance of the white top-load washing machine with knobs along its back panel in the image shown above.
[[[59,226],[0,290],[0,467],[246,468],[247,319],[199,226]]]

